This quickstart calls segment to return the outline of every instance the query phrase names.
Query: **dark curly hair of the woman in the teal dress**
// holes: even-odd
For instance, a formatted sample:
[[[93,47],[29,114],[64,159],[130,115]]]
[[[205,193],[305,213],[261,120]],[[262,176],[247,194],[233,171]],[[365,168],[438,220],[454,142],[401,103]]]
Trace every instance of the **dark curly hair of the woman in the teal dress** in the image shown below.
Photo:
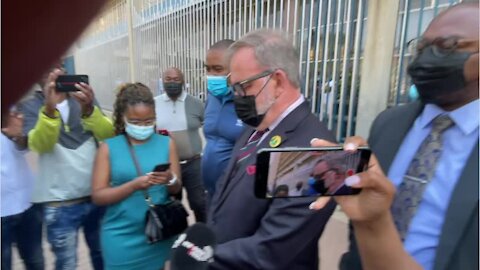
[[[124,115],[128,106],[136,104],[152,106],[155,110],[155,101],[150,89],[143,83],[126,83],[119,87],[117,99],[113,105],[113,123],[117,135],[125,133]]]

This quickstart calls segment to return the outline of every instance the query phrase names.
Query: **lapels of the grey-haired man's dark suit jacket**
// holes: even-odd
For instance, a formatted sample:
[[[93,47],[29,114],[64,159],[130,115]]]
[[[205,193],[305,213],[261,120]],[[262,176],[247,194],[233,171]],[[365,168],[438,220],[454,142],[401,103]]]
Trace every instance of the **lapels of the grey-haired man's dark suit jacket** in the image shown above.
[[[261,141],[261,143],[257,146],[257,150],[269,147],[269,142],[270,139],[273,136],[280,136],[282,138],[282,141],[280,145],[277,147],[280,147],[282,144],[284,144],[288,140],[288,133],[290,133],[292,130],[295,130],[298,124],[304,119],[308,114],[310,113],[308,109],[308,104],[306,102],[302,103],[300,106],[298,106],[295,110],[293,110],[289,115],[287,115],[281,122],[280,124],[272,130],[268,135]],[[242,138],[237,142],[235,145],[235,149],[233,151],[232,158],[230,159],[229,166],[228,166],[228,174],[225,175],[227,177],[224,180],[224,184],[222,186],[222,191],[219,195],[218,201],[215,203],[215,210],[218,210],[220,206],[224,203],[225,199],[228,197],[230,192],[234,189],[234,187],[242,180],[246,180],[246,178],[251,178],[248,180],[255,181],[255,176],[248,176],[245,177],[246,173],[246,168],[251,165],[256,164],[256,159],[257,159],[257,154],[253,153],[251,154],[248,159],[245,161],[245,166],[241,166],[238,168],[237,174],[240,174],[239,177],[236,177],[233,179],[233,169],[236,163],[236,156],[238,155],[238,151],[240,148],[245,145],[247,140],[250,138],[250,135],[252,134],[253,129],[249,129],[249,132],[245,132]],[[217,191],[218,192],[218,191]],[[252,190],[252,193],[254,190]]]

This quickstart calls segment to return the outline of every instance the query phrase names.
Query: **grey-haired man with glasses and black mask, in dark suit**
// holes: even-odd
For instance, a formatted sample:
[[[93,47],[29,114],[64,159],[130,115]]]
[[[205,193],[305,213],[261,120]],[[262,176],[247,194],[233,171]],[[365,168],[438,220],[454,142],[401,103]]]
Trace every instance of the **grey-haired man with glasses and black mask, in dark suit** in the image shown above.
[[[291,42],[255,31],[232,44],[228,55],[235,109],[250,127],[235,144],[212,199],[208,225],[219,245],[210,269],[318,269],[318,239],[335,204],[315,213],[309,199],[256,198],[256,151],[334,137],[300,94]]]

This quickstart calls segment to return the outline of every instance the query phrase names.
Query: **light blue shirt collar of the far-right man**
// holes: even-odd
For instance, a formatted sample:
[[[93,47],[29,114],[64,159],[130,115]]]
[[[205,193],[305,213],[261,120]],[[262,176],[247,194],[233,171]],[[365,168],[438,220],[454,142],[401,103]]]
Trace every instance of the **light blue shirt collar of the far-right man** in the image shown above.
[[[479,126],[479,105],[479,100],[476,99],[456,110],[448,112],[437,105],[427,104],[420,115],[420,127],[427,128],[437,116],[447,114],[455,125],[457,125],[465,135],[468,135]]]

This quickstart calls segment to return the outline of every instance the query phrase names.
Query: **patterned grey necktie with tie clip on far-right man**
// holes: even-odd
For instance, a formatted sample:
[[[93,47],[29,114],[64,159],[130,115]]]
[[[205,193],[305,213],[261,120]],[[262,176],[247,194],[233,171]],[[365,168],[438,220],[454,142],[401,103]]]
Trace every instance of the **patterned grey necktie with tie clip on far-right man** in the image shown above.
[[[392,204],[392,215],[402,241],[442,154],[442,134],[452,125],[453,121],[447,115],[438,116],[433,120],[432,131],[420,145],[402,183],[398,186]]]

